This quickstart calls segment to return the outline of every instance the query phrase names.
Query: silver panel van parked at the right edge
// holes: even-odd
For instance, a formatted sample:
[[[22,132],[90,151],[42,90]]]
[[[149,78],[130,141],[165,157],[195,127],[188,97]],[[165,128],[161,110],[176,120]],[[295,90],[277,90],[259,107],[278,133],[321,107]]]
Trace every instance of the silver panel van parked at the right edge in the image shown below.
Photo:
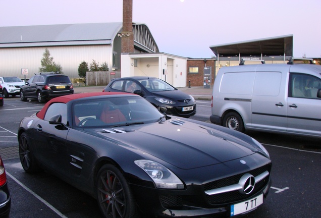
[[[321,137],[321,66],[259,64],[221,68],[210,121],[237,131]]]

